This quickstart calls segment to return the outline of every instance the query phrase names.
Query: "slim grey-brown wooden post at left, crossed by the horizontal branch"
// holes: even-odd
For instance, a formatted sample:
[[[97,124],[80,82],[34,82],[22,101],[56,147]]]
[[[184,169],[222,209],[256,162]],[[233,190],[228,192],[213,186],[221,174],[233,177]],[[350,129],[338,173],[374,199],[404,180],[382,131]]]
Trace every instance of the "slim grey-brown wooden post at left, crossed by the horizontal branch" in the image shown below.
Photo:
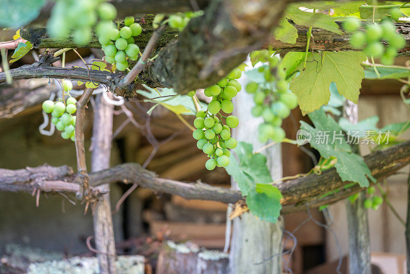
[[[113,111],[114,106],[104,100],[103,94],[100,93],[95,97],[91,152],[92,172],[110,167]],[[116,274],[110,185],[103,184],[98,188],[108,192],[96,202],[93,215],[95,245],[100,251],[97,254],[99,270],[103,274]]]

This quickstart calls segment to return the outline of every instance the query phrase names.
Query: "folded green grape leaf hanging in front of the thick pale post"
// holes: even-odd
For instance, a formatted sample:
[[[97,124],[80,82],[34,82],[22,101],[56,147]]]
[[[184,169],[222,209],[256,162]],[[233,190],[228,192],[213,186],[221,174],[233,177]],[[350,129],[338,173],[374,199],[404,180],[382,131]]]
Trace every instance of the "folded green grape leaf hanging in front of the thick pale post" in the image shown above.
[[[261,220],[275,223],[282,208],[282,194],[271,185],[272,177],[266,165],[266,157],[253,154],[252,144],[239,142],[230,156],[230,164],[225,169],[238,183],[243,196],[247,197],[250,211]]]

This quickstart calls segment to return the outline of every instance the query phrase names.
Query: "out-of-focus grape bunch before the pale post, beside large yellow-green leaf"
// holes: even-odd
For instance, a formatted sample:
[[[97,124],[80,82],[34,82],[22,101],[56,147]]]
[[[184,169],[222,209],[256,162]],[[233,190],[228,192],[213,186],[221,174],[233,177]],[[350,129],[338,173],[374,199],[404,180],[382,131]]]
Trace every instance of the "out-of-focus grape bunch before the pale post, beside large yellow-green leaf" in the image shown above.
[[[259,56],[262,62],[269,62],[259,68],[267,83],[262,85],[249,82],[245,89],[254,94],[255,106],[252,108],[252,115],[262,116],[264,120],[258,127],[259,141],[265,143],[271,139],[273,142],[280,142],[285,138],[285,131],[281,128],[282,120],[290,115],[291,109],[298,106],[298,101],[288,90],[285,71],[278,68],[279,58],[270,56],[268,52]]]

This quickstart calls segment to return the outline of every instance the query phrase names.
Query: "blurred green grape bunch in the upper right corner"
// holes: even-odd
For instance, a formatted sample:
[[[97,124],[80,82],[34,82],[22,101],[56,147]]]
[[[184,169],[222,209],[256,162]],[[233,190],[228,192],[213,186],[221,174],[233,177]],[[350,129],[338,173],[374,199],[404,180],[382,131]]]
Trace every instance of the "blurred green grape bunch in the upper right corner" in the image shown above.
[[[396,26],[385,20],[381,24],[366,24],[364,31],[359,30],[361,27],[362,23],[355,17],[348,17],[343,22],[343,29],[352,32],[350,45],[354,49],[363,49],[368,56],[380,58],[383,65],[393,65],[397,51],[406,44],[403,36],[397,33]]]

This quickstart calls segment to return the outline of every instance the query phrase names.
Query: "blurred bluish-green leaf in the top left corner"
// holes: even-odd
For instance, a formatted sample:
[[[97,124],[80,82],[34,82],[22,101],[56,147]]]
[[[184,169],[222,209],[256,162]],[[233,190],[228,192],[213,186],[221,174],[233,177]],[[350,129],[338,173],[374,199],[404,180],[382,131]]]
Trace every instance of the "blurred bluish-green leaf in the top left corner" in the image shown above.
[[[35,19],[46,0],[0,1],[0,27],[15,28],[27,25]]]

